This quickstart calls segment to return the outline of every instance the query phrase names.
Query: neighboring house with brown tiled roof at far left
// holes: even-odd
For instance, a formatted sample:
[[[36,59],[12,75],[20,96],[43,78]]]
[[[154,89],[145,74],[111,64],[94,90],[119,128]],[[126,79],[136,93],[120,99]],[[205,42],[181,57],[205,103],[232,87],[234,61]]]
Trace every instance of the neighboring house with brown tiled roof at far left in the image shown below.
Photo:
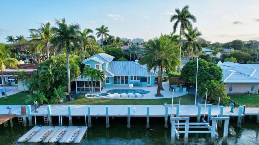
[[[16,77],[13,75],[15,73],[20,73],[22,70],[25,70],[24,73],[28,75],[27,78],[31,77],[31,72],[36,70],[38,66],[39,64],[20,64],[20,65],[17,65],[17,67],[19,68],[19,71],[16,69],[11,69],[6,67],[6,71],[3,72],[5,82],[12,86],[18,86],[19,91],[23,91],[23,85],[25,86],[25,90],[28,90],[27,81],[24,80],[22,85],[22,81],[18,81],[18,82],[14,81]],[[0,84],[3,84],[2,77],[0,78]]]

